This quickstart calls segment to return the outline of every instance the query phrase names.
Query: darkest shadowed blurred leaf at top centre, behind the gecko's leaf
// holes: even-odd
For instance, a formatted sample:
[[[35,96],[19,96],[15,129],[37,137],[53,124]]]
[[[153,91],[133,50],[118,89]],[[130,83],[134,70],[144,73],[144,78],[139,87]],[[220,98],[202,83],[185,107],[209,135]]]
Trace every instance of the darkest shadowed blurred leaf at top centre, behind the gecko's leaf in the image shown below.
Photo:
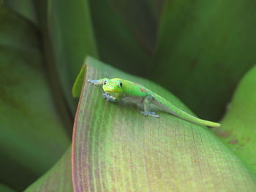
[[[123,13],[120,8],[132,9],[131,1],[91,0],[90,5],[101,60],[134,74],[145,75],[148,70],[151,71],[153,37],[156,33],[154,18],[151,16],[144,20],[143,27],[135,28],[139,21],[132,16],[140,15],[140,11],[152,15],[143,7],[143,3],[137,7],[140,11],[132,14],[128,9]],[[142,31],[148,28],[151,30],[143,34]]]

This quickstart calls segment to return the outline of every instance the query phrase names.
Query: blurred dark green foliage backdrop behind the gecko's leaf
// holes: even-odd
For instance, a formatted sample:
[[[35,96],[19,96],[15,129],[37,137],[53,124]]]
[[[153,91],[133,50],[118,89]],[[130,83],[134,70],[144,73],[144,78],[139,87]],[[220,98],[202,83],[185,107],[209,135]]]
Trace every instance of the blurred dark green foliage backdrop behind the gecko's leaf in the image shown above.
[[[0,4],[3,191],[27,188],[71,144],[78,104],[71,89],[86,55],[157,82],[215,121],[256,63],[254,0]]]

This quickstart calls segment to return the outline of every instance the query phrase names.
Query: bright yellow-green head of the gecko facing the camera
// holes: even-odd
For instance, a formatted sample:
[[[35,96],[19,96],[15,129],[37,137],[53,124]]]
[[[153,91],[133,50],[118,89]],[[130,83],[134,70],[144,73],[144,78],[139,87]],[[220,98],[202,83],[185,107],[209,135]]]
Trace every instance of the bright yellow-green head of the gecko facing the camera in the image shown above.
[[[123,82],[121,82],[121,79],[117,78],[105,80],[102,88],[105,93],[110,94],[113,99],[118,99],[123,92]]]

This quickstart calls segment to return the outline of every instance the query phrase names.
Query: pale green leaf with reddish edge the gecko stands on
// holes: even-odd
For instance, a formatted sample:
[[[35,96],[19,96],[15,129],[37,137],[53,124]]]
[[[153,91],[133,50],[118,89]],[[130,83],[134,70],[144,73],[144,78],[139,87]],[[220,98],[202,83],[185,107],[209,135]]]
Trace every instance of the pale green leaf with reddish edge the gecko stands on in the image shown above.
[[[94,58],[84,67],[72,142],[75,191],[256,190],[255,175],[207,128],[165,112],[143,117],[135,106],[105,101],[87,80],[132,80],[191,113],[164,88]]]

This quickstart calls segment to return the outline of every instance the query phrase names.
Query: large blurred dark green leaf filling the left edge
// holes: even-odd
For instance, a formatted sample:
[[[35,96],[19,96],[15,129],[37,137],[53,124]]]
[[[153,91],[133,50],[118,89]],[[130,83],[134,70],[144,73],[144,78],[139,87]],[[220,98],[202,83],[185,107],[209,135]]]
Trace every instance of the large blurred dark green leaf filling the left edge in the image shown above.
[[[42,67],[37,31],[0,7],[0,180],[21,191],[70,141]]]

